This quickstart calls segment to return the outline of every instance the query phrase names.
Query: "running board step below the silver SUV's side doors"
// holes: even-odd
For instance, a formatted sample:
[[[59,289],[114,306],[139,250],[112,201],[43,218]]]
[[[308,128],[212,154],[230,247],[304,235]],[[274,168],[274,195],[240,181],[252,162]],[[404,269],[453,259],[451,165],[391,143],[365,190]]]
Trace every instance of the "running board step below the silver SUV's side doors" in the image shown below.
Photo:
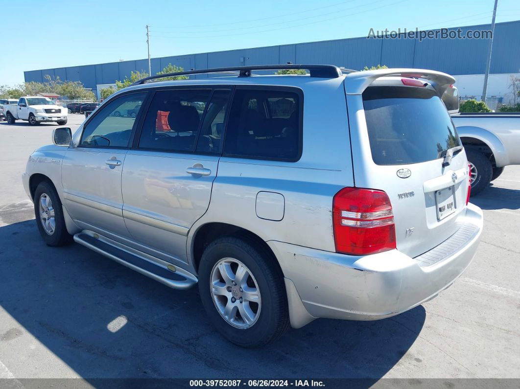
[[[150,257],[150,259],[146,259],[145,257],[149,257],[147,254],[142,253],[141,256],[138,254],[140,252],[131,248],[123,249],[122,247],[116,247],[116,245],[121,245],[92,231],[84,230],[75,234],[74,242],[159,281],[170,288],[188,289],[197,284],[197,277],[186,270],[157,258],[152,259]]]

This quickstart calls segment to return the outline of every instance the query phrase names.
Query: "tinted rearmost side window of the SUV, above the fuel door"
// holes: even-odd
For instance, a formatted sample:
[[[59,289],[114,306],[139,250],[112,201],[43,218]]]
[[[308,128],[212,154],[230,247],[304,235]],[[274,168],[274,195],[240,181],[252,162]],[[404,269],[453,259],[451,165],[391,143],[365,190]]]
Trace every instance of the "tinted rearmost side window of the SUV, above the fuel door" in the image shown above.
[[[237,89],[229,111],[225,155],[297,160],[302,142],[300,104],[296,92]]]

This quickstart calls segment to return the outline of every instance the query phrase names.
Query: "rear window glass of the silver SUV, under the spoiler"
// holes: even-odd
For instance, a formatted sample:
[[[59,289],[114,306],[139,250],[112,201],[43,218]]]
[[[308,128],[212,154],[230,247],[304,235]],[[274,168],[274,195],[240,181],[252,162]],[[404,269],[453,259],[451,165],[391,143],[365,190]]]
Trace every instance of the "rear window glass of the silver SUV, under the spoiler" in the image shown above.
[[[431,89],[369,87],[363,106],[378,165],[426,162],[461,144],[446,106]]]

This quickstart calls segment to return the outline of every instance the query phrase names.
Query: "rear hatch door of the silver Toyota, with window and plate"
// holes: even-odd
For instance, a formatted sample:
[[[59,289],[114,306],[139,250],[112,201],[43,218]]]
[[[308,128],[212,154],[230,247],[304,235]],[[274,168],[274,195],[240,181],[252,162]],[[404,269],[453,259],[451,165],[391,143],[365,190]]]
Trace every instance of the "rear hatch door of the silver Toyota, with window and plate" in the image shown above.
[[[397,249],[416,257],[460,227],[467,160],[437,91],[397,81],[378,80],[362,96],[347,96],[354,179],[388,194]]]

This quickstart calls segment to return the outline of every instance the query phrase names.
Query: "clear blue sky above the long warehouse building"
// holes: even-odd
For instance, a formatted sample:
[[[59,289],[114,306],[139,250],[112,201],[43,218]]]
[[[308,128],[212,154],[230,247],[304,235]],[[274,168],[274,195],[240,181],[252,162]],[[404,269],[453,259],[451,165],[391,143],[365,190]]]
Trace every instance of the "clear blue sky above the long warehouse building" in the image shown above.
[[[27,70],[146,58],[146,24],[153,58],[483,24],[492,9],[493,0],[6,1],[0,85]],[[497,22],[518,19],[518,0],[499,0]]]

